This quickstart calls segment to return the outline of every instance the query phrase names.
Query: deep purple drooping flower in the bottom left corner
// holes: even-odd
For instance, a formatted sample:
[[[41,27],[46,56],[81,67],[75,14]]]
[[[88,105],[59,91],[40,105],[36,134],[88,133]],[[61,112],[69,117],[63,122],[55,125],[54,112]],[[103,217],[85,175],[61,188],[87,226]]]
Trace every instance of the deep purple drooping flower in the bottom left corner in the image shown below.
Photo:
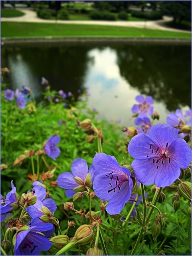
[[[51,248],[52,243],[44,235],[47,232],[51,236],[53,224],[36,225],[16,234],[15,255],[40,255],[40,250],[47,251]]]

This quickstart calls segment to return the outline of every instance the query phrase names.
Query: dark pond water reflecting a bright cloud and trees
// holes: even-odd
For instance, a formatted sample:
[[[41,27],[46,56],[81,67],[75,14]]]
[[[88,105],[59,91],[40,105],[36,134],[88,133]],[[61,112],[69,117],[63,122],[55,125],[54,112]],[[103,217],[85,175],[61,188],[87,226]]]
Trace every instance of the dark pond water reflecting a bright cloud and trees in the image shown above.
[[[53,90],[89,86],[89,108],[98,119],[133,125],[131,107],[138,94],[154,98],[160,121],[177,108],[191,107],[191,46],[163,44],[59,44],[3,47],[1,66],[11,70],[9,88],[29,86],[40,99],[49,80]]]

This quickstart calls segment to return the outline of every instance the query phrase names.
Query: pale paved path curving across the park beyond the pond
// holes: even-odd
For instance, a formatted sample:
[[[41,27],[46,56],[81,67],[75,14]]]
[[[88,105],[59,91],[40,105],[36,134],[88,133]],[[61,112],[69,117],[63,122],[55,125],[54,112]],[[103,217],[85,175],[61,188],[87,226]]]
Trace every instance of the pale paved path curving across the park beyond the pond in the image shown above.
[[[1,21],[15,21],[15,22],[41,22],[41,23],[59,23],[59,24],[93,24],[93,25],[109,25],[109,26],[125,26],[134,28],[150,28],[175,32],[187,32],[188,30],[179,30],[175,28],[168,28],[165,22],[172,20],[172,18],[164,16],[163,20],[155,21],[100,21],[100,20],[43,20],[37,17],[36,12],[26,9],[19,9],[25,13],[24,16],[15,18],[1,18]]]

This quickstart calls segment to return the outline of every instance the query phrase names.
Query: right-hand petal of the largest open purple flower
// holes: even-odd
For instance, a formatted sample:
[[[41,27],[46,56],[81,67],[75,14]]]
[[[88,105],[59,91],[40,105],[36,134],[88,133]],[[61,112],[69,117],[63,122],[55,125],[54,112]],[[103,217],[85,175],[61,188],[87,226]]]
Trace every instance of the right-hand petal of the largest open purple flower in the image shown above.
[[[168,148],[170,162],[176,163],[180,168],[187,168],[191,162],[191,148],[183,139],[177,139]]]

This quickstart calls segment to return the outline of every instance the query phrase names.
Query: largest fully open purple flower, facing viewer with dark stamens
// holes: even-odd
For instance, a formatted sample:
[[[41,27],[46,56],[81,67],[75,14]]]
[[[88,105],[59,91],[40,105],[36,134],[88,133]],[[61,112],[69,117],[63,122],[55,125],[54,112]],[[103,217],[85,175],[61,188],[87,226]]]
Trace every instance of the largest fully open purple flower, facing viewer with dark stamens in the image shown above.
[[[190,147],[168,124],[157,124],[148,134],[134,136],[128,152],[135,158],[131,164],[135,178],[157,187],[171,185],[180,176],[180,168],[187,168],[191,161]]]

